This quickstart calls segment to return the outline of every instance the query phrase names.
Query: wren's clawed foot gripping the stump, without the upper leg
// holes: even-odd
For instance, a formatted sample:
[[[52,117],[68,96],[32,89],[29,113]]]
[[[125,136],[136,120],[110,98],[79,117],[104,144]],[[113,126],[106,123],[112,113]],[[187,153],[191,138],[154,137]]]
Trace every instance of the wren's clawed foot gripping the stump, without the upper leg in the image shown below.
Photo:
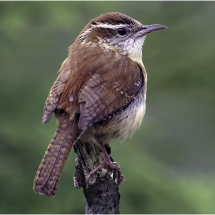
[[[110,159],[110,156],[106,157],[103,162],[98,166],[96,167],[94,170],[92,170],[87,178],[87,184],[89,184],[89,180],[90,178],[95,175],[95,173],[100,170],[100,169],[103,169],[105,167],[110,167],[111,169],[115,169],[118,173],[121,174],[121,171],[120,171],[120,166],[117,162],[113,162],[111,161]]]

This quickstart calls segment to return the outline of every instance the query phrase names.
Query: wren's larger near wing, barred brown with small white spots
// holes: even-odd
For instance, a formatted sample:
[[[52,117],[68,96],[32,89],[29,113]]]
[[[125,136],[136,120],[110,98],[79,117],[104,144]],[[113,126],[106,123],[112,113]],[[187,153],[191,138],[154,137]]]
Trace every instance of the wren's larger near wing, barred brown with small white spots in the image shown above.
[[[126,73],[125,68],[129,72]],[[144,86],[142,68],[135,62],[95,74],[79,94],[78,127],[85,130],[94,123],[123,111]]]

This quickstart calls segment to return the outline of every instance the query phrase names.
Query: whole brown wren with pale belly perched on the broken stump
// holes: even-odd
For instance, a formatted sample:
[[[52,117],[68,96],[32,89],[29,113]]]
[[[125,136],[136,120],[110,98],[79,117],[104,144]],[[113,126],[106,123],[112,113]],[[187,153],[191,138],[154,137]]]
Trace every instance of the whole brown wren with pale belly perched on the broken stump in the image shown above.
[[[139,128],[146,108],[147,74],[142,63],[146,34],[167,28],[142,25],[121,13],[92,19],[69,47],[45,102],[43,123],[59,121],[34,179],[34,191],[54,196],[63,166],[80,139],[96,144],[103,163],[92,171],[119,165],[105,144],[125,139]]]

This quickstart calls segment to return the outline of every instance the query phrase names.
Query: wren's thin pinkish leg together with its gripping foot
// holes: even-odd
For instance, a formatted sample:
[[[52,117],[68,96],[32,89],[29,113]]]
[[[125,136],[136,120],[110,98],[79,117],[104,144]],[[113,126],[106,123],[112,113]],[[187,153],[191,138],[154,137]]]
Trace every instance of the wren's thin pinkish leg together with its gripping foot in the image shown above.
[[[103,144],[103,142],[98,140],[98,139],[96,139],[96,145],[101,149],[104,160],[98,167],[96,167],[95,169],[93,169],[90,172],[90,174],[89,174],[89,176],[87,178],[87,183],[89,182],[90,177],[92,177],[98,170],[100,170],[102,168],[105,168],[105,167],[108,167],[108,166],[110,168],[112,168],[112,169],[117,170],[121,174],[119,164],[116,163],[116,162],[111,161],[110,155],[107,153],[107,150],[106,150],[105,145]]]

